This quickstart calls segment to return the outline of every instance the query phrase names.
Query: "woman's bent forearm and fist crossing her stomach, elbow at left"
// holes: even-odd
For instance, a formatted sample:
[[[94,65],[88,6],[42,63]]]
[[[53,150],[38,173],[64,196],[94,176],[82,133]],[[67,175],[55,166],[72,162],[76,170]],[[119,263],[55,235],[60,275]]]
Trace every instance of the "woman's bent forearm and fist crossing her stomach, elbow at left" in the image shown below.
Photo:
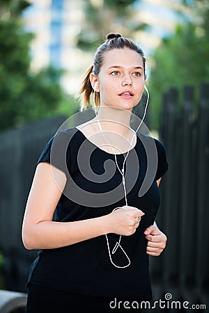
[[[139,227],[139,217],[143,215],[144,212],[135,207],[124,206],[107,215],[87,220],[23,223],[22,239],[24,246],[31,250],[61,248],[109,233],[131,236]]]

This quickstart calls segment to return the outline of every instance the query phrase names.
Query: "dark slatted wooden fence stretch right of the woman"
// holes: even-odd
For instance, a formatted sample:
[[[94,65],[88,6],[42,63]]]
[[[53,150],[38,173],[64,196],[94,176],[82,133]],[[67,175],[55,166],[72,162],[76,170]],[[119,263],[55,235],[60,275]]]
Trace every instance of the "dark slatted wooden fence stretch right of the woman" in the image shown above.
[[[154,297],[165,300],[169,293],[173,300],[208,307],[208,83],[199,89],[185,86],[180,92],[171,88],[164,95],[160,139],[167,149],[169,171],[160,186],[157,223],[168,241],[162,255],[150,259]]]

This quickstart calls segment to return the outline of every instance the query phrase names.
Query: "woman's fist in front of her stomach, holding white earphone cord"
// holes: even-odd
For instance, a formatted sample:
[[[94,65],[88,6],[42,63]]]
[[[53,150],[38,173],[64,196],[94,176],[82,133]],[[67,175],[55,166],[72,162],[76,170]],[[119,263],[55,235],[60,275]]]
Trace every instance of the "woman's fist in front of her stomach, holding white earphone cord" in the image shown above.
[[[108,214],[109,232],[123,236],[131,236],[136,232],[144,212],[127,205],[119,207]]]

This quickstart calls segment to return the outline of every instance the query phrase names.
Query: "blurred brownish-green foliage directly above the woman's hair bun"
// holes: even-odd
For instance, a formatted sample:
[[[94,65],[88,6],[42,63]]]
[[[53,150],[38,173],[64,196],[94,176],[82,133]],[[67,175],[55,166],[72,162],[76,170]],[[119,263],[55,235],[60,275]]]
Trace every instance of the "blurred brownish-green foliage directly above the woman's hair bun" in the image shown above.
[[[85,24],[77,35],[77,46],[80,49],[95,49],[113,29],[126,36],[146,29],[148,24],[133,19],[134,3],[139,5],[139,2],[140,0],[86,0]]]

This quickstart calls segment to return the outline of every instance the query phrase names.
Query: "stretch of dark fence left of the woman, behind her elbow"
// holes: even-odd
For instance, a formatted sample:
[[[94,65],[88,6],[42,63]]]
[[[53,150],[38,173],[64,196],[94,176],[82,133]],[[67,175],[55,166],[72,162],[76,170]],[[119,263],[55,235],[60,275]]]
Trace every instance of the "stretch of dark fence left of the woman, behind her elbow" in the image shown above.
[[[0,134],[0,251],[3,287],[26,291],[29,264],[37,251],[22,244],[21,227],[36,161],[64,118],[36,122]]]

